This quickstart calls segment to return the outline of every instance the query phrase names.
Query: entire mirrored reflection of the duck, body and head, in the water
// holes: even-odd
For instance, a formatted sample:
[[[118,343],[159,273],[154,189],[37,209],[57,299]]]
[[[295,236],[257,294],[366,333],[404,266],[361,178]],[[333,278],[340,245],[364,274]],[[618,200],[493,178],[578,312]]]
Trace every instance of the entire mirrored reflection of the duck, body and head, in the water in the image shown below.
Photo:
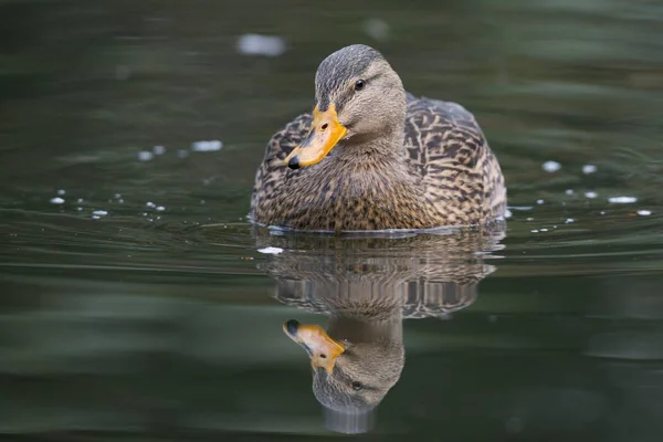
[[[407,238],[259,235],[259,245],[283,249],[264,266],[277,282],[275,297],[328,316],[326,330],[296,319],[283,325],[311,358],[328,429],[372,427],[403,369],[402,320],[471,305],[495,271],[484,254],[503,238],[501,227]]]

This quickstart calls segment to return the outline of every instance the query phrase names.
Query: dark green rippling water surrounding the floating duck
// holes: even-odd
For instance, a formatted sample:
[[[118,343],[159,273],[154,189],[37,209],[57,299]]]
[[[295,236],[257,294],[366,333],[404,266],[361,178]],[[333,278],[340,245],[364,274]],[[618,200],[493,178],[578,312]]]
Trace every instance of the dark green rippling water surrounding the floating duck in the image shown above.
[[[0,432],[659,440],[662,14],[0,1]],[[246,34],[284,46],[242,54]],[[506,230],[246,222],[266,140],[311,107],[317,63],[355,42],[410,92],[476,115],[507,179]],[[362,340],[361,380],[393,382],[377,413],[323,412],[288,319]]]

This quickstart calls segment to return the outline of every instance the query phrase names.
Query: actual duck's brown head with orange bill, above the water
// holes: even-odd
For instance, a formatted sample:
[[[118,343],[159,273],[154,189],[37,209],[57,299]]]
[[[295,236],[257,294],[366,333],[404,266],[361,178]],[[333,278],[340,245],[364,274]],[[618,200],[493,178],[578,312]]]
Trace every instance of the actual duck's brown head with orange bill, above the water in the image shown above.
[[[334,52],[315,75],[311,131],[286,158],[292,169],[322,161],[343,141],[389,139],[402,131],[406,91],[398,74],[375,49],[354,44]]]

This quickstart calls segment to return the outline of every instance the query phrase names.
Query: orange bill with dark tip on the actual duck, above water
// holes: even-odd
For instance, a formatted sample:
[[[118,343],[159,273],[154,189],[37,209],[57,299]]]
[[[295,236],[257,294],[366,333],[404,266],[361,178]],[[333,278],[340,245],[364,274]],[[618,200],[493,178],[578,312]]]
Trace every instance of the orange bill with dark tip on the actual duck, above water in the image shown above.
[[[285,157],[285,164],[291,169],[316,165],[332,151],[334,146],[347,133],[346,127],[338,122],[338,115],[334,105],[329,106],[325,112],[320,112],[315,106],[308,135],[299,146],[295,147]]]

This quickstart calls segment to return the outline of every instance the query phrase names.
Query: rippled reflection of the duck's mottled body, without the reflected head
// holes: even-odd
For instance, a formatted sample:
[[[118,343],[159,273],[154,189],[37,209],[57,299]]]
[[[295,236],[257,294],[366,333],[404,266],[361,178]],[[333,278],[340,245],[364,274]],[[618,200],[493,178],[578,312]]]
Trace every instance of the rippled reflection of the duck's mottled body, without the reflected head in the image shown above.
[[[419,318],[472,304],[480,282],[495,271],[475,252],[498,250],[504,236],[505,225],[497,223],[446,234],[343,243],[328,235],[274,236],[262,231],[257,238],[261,246],[286,251],[261,267],[278,282],[275,297],[282,303],[325,314],[360,303],[365,316],[400,307],[403,317]],[[290,253],[302,248],[315,253]]]

